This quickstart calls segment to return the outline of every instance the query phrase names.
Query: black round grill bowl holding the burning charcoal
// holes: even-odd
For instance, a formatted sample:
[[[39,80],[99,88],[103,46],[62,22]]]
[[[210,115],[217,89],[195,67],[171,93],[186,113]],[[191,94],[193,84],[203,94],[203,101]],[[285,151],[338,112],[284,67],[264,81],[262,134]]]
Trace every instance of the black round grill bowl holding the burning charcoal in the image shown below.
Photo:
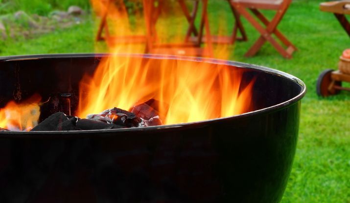
[[[77,95],[106,54],[0,58],[0,107],[39,93]],[[145,128],[0,132],[0,202],[276,203],[291,171],[305,85],[286,73],[233,61],[187,60],[256,77],[255,109],[238,116]],[[16,97],[14,97],[16,96]],[[72,98],[72,111],[77,103]],[[48,102],[49,103],[49,102]],[[52,113],[42,107],[41,120]],[[51,106],[52,107],[52,106]],[[53,108],[55,110],[55,108]]]

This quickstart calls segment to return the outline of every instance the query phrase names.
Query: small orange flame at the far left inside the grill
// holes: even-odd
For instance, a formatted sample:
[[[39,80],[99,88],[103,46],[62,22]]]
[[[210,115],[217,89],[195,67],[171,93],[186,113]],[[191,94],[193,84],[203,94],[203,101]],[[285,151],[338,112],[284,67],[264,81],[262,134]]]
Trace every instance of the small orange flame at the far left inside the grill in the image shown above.
[[[38,124],[40,100],[41,97],[35,94],[21,103],[8,102],[5,107],[0,108],[0,127],[13,131],[32,129]]]

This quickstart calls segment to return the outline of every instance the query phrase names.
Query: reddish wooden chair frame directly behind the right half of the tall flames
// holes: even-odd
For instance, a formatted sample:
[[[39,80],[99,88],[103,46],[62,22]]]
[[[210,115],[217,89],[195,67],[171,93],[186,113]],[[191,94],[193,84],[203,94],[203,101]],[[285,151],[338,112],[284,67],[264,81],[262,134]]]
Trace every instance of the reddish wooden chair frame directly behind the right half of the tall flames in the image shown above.
[[[144,0],[145,1],[145,0]],[[173,54],[173,55],[192,55],[192,56],[201,56],[201,57],[212,57],[212,41],[210,38],[210,26],[208,20],[207,6],[208,0],[192,0],[194,2],[192,13],[188,11],[186,7],[185,0],[177,0],[182,11],[185,14],[189,27],[187,34],[183,43],[159,43],[157,41],[157,31],[156,23],[159,15],[154,15],[157,13],[157,10],[162,6],[163,0],[147,0],[147,6],[145,9],[146,12],[146,30],[147,36],[150,36],[150,39],[147,40],[147,47],[149,53],[156,54]],[[157,3],[155,3],[157,2]],[[196,12],[198,9],[198,4],[202,3],[201,9],[201,19],[200,25],[197,29],[194,26],[194,20],[196,18]],[[155,6],[157,5],[157,6]],[[202,47],[202,38],[204,36],[204,31],[206,33],[206,46]],[[188,41],[188,36],[193,33],[197,35],[198,38],[196,41]]]

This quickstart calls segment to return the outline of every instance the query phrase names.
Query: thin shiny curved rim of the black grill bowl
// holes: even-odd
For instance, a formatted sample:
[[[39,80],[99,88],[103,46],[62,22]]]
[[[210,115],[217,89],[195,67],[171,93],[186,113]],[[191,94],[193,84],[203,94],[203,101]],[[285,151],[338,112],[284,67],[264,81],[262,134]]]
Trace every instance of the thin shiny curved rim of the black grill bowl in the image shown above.
[[[212,64],[221,64],[221,65],[229,65],[229,66],[235,66],[238,68],[244,68],[244,69],[253,69],[258,71],[263,71],[268,74],[276,75],[279,77],[283,77],[286,80],[292,81],[296,84],[298,84],[301,88],[301,91],[298,95],[295,97],[285,101],[278,103],[276,105],[272,105],[266,108],[258,109],[255,111],[250,111],[247,113],[229,116],[229,117],[221,117],[216,119],[209,119],[209,120],[203,120],[198,122],[186,122],[186,123],[177,123],[177,124],[169,124],[169,125],[159,125],[159,126],[149,126],[149,127],[141,127],[141,128],[121,128],[121,129],[105,129],[105,130],[79,130],[79,131],[29,131],[29,132],[23,132],[23,131],[1,131],[0,137],[7,137],[7,136],[28,136],[28,135],[57,135],[59,134],[74,134],[74,135],[85,135],[85,134],[96,134],[96,132],[144,132],[144,131],[152,131],[152,130],[168,130],[168,129],[179,129],[179,128],[193,128],[194,126],[204,126],[212,122],[219,122],[219,121],[233,121],[238,119],[244,119],[247,117],[253,117],[258,116],[266,113],[271,113],[274,111],[279,111],[284,108],[287,108],[288,106],[291,106],[297,102],[300,102],[300,100],[304,97],[306,94],[306,85],[305,83],[300,80],[299,78],[290,75],[288,73],[282,72],[280,70],[276,70],[273,68],[268,68],[265,66],[255,65],[255,64],[249,64],[249,63],[243,63],[238,61],[228,61],[228,60],[219,60],[219,59],[211,59],[211,58],[201,58],[201,57],[187,57],[187,56],[175,56],[175,55],[154,55],[154,54],[112,54],[112,53],[74,53],[74,54],[39,54],[39,55],[16,55],[16,56],[5,56],[0,57],[0,62],[2,61],[25,61],[25,60],[40,60],[40,59],[62,59],[62,58],[102,58],[102,57],[108,57],[108,56],[118,56],[118,57],[136,57],[136,58],[148,58],[148,59],[159,59],[159,60],[182,60],[182,61],[195,61],[195,62],[205,62],[205,63],[212,63]],[[60,135],[62,136],[62,135]]]

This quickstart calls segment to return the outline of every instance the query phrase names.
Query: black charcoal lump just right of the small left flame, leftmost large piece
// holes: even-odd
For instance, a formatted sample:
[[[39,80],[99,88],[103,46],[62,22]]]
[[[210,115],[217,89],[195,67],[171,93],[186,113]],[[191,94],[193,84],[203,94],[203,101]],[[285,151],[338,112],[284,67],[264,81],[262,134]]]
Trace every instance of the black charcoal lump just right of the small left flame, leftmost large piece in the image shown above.
[[[57,112],[49,116],[47,119],[45,119],[43,122],[39,123],[37,126],[35,126],[30,131],[55,131],[58,129],[58,126],[62,123],[67,121],[68,118],[66,114],[62,112]]]

